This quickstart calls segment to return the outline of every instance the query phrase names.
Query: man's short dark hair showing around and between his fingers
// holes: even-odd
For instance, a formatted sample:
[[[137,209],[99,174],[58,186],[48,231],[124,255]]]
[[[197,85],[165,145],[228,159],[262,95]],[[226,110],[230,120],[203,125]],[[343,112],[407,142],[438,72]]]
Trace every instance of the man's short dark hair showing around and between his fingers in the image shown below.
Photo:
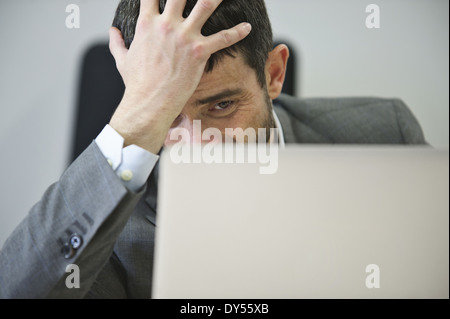
[[[167,0],[160,0],[160,12],[164,11],[166,2]],[[187,0],[183,13],[185,18],[196,3],[197,0]],[[116,10],[113,26],[122,32],[127,48],[134,38],[139,8],[140,0],[121,0]],[[206,72],[212,71],[225,55],[234,57],[233,53],[241,53],[247,65],[256,71],[261,86],[265,87],[265,65],[273,47],[273,34],[264,0],[224,0],[203,26],[202,34],[209,36],[241,22],[249,22],[252,25],[250,35],[232,47],[213,54],[206,66]]]

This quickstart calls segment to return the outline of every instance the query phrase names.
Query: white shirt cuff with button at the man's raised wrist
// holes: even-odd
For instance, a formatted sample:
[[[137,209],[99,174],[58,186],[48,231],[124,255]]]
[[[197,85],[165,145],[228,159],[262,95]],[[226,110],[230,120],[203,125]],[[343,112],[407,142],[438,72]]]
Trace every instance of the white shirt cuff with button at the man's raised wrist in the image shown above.
[[[137,145],[123,148],[124,138],[110,125],[105,126],[95,142],[122,184],[133,192],[142,189],[159,156]]]

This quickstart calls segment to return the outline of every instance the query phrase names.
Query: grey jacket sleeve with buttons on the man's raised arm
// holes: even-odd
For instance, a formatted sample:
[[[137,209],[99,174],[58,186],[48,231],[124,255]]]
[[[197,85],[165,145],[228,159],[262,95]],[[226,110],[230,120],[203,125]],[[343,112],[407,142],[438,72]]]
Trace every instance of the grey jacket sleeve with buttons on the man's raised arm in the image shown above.
[[[144,192],[129,192],[93,142],[6,240],[0,298],[86,296]],[[72,264],[78,289],[66,286]]]

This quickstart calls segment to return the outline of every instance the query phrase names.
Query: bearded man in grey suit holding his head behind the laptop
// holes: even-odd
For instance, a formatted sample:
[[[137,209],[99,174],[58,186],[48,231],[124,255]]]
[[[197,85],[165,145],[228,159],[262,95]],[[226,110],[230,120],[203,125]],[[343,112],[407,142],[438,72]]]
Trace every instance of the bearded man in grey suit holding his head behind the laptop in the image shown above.
[[[397,100],[280,96],[289,50],[272,50],[263,0],[122,0],[114,26],[123,99],[5,243],[3,298],[151,297],[157,154],[194,120],[277,127],[280,143],[425,142]],[[71,264],[79,288],[66,285]]]

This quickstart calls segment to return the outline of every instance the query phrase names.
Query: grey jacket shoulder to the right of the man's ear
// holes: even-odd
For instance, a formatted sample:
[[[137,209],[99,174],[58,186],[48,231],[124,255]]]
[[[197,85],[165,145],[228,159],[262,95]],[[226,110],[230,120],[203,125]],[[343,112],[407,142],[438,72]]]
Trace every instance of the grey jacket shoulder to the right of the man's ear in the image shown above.
[[[425,144],[419,122],[399,99],[377,97],[297,99],[281,95],[297,143]],[[283,115],[281,116],[283,118]],[[281,121],[281,119],[280,119]],[[282,125],[283,125],[283,121]],[[286,122],[286,119],[285,119]],[[283,125],[283,129],[284,129]],[[289,134],[289,132],[288,132]]]

